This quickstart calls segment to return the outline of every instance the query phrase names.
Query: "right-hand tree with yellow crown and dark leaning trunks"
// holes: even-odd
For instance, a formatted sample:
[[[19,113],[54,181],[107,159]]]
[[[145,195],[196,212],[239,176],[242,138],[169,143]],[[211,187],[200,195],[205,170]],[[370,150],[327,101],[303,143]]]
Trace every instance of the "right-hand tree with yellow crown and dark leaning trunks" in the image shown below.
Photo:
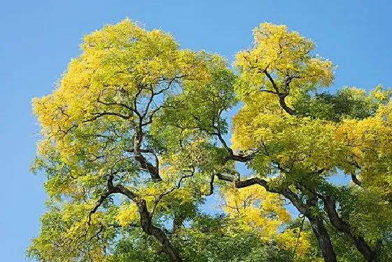
[[[274,175],[273,181],[256,178],[253,183],[270,188],[273,182],[269,190],[286,196],[307,216],[325,261],[336,258],[318,214],[321,206],[332,226],[349,236],[367,261],[374,261],[382,237],[365,240],[355,232],[350,219],[342,217],[337,209],[339,188],[325,178],[340,170],[361,187],[356,188],[360,193],[365,190],[367,194],[372,193],[374,181],[386,182],[389,171],[385,165],[391,153],[384,148],[391,139],[390,91],[378,87],[367,96],[363,90],[351,88],[331,96],[335,99],[329,103],[327,99],[318,99],[323,96],[312,96],[311,92],[330,85],[333,76],[332,63],[312,56],[312,49],[309,39],[288,32],[284,26],[262,25],[255,29],[255,48],[237,55],[241,79],[237,89],[245,105],[235,117],[234,144],[238,149],[257,153],[249,163],[253,169]],[[339,104],[345,96],[348,109]],[[320,107],[312,110],[312,106],[302,104],[299,109],[304,112],[293,108],[301,100],[309,104],[318,100],[314,104]],[[338,119],[343,120],[337,122]],[[382,129],[379,135],[377,125]],[[351,132],[356,135],[351,136]],[[367,155],[369,151],[372,158]],[[365,182],[370,175],[367,166],[379,161],[386,168],[372,170],[372,182]],[[356,221],[355,216],[353,220]]]

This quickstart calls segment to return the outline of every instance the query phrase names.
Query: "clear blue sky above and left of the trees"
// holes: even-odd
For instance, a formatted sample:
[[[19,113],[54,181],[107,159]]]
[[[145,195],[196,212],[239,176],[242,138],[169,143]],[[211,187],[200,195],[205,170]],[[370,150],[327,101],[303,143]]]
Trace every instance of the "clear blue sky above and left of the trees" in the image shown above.
[[[0,1],[0,261],[24,261],[44,212],[43,177],[29,173],[38,127],[30,100],[48,94],[84,34],[129,17],[183,48],[232,60],[260,22],[286,24],[335,62],[335,88],[392,85],[391,1]]]

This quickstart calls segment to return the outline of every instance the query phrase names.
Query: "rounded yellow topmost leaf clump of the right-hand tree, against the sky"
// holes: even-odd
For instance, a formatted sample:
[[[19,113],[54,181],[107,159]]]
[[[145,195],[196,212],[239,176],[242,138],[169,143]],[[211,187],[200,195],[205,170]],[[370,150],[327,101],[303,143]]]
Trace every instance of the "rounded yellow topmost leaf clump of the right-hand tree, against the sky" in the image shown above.
[[[255,28],[253,37],[253,49],[239,52],[235,61],[240,72],[237,92],[244,102],[258,101],[258,95],[253,94],[260,90],[286,92],[286,83],[290,84],[291,95],[332,83],[332,62],[311,56],[314,43],[310,39],[288,32],[285,25],[270,23]],[[276,86],[269,76],[274,78]],[[259,106],[266,104],[259,102]]]

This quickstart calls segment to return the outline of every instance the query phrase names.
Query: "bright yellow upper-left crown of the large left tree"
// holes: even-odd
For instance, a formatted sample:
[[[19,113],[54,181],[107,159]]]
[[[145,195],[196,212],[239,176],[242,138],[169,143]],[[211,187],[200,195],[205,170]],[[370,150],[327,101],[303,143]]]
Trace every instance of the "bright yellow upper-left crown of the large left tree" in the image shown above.
[[[222,63],[217,55],[179,50],[169,34],[148,32],[130,20],[107,25],[84,40],[83,53],[71,60],[52,94],[33,99],[43,135],[52,139],[64,163],[75,162],[73,156],[85,149],[71,135],[77,128],[104,128],[109,124],[99,119],[105,119],[123,121],[131,129],[133,99],[140,88],[144,90],[139,95],[148,97],[151,91],[147,87],[159,92],[163,82],[174,78],[183,79],[184,85],[207,83],[211,78],[207,64]],[[99,148],[90,146],[90,153],[98,155]]]

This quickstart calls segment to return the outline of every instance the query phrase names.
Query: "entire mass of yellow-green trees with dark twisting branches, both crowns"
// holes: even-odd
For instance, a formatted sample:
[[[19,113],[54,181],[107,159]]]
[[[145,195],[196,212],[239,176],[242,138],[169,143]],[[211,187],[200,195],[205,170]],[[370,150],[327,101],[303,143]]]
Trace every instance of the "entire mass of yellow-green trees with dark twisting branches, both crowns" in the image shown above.
[[[325,261],[344,254],[334,242],[388,258],[391,91],[320,92],[334,66],[312,41],[268,23],[254,37],[233,70],[130,20],[85,36],[57,88],[33,101],[32,168],[50,199],[28,255],[314,261],[316,241]],[[238,104],[231,147],[225,112]],[[353,184],[331,183],[337,173]],[[201,212],[208,195],[221,195],[222,216]]]

